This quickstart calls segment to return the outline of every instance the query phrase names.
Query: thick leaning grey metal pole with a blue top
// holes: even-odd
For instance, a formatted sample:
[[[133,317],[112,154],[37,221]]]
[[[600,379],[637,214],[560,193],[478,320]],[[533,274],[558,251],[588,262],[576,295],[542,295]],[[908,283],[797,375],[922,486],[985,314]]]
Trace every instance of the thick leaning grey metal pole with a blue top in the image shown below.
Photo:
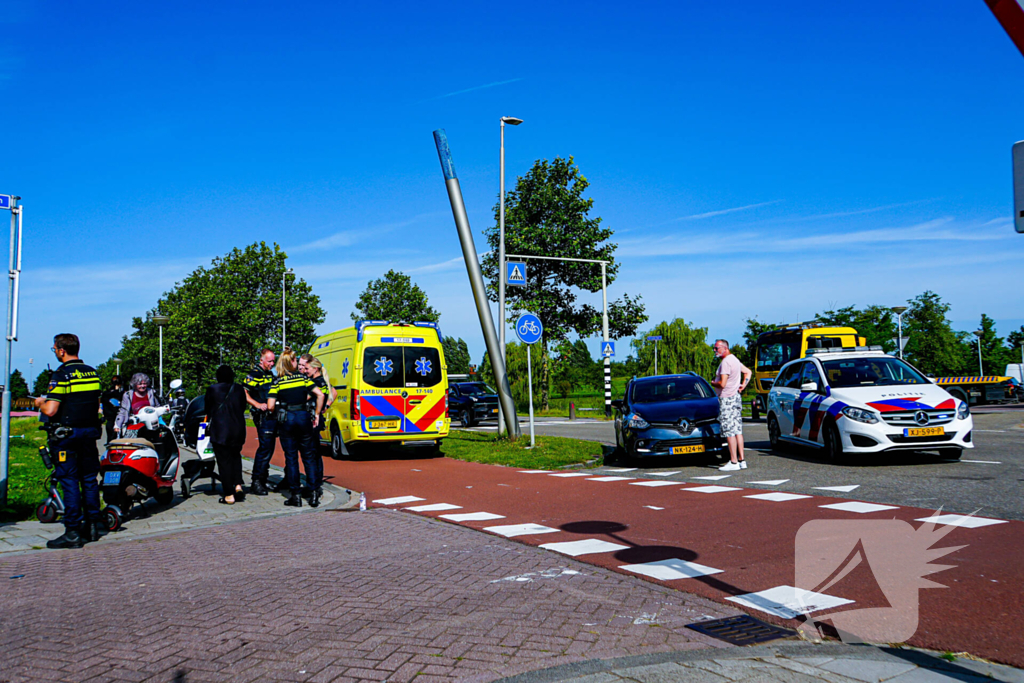
[[[490,356],[490,367],[495,371],[495,383],[498,385],[498,402],[502,408],[502,417],[509,438],[519,435],[519,420],[515,415],[515,403],[512,402],[512,390],[509,388],[508,373],[505,372],[505,360],[498,345],[498,335],[495,334],[495,322],[490,317],[490,304],[487,302],[486,290],[483,288],[483,275],[480,273],[480,261],[476,255],[476,245],[473,243],[473,232],[469,227],[469,216],[466,215],[466,204],[462,199],[462,187],[455,175],[455,165],[452,163],[452,152],[447,146],[447,136],[443,128],[434,131],[434,144],[437,145],[437,158],[441,162],[441,172],[444,173],[444,185],[449,190],[449,201],[452,203],[452,214],[455,216],[455,226],[459,231],[459,242],[462,243],[462,255],[466,259],[466,270],[469,273],[469,284],[473,288],[473,299],[476,301],[476,313],[480,317],[480,330],[483,341]]]

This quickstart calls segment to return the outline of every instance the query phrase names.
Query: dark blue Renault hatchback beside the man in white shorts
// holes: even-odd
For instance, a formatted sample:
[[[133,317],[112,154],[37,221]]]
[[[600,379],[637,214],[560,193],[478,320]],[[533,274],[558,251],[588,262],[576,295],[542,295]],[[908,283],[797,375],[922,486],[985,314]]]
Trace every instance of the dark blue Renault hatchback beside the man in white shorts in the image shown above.
[[[611,404],[615,445],[626,458],[727,453],[718,398],[696,373],[634,378]]]

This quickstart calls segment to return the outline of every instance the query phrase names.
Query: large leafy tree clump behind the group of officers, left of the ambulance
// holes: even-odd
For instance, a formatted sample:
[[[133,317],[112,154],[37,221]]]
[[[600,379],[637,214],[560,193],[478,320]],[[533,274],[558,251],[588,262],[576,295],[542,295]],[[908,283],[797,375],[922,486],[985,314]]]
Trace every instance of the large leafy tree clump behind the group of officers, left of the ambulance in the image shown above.
[[[167,315],[164,328],[164,382],[180,377],[189,395],[212,383],[217,366],[226,364],[247,372],[264,346],[281,348],[281,286],[287,255],[278,245],[253,244],[232,249],[199,267],[164,294],[145,315],[132,319],[134,332],[124,337],[120,357],[122,376],[143,372],[158,381],[159,329],[153,314]],[[319,297],[296,278],[288,283],[288,342],[304,351],[316,338],[324,322]],[[116,365],[101,364],[103,386],[109,386]],[[166,389],[166,387],[165,387]]]

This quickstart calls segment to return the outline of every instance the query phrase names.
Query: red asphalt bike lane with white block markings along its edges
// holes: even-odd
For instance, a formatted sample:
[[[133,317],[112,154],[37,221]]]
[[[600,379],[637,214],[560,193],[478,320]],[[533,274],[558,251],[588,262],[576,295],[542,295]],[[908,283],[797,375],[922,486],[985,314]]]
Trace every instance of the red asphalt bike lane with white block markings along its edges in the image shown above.
[[[251,457],[255,446],[254,430],[250,429],[244,453]],[[273,463],[284,465],[280,446]],[[331,483],[366,493],[368,503],[415,496],[423,500],[388,507],[447,503],[461,509],[413,514],[436,518],[453,513],[489,512],[505,518],[459,523],[480,530],[486,526],[530,522],[559,529],[554,533],[512,539],[531,546],[584,539],[627,546],[625,550],[586,554],[574,559],[708,597],[791,628],[800,622],[748,609],[725,599],[796,585],[795,539],[805,522],[896,518],[918,528],[923,522],[915,519],[935,513],[934,510],[900,506],[894,510],[859,514],[818,507],[848,502],[846,499],[814,496],[776,503],[744,498],[770,493],[763,488],[691,493],[685,489],[708,484],[672,482],[673,485],[658,487],[637,486],[632,484],[651,479],[589,481],[592,477],[525,474],[515,468],[446,458],[358,462],[325,458],[324,468]],[[936,529],[939,528],[937,525]],[[946,588],[919,591],[920,621],[908,643],[935,650],[967,651],[1024,667],[1021,591],[1024,585],[1024,522],[1011,520],[979,528],[956,527],[934,545],[935,548],[966,547],[933,560],[936,565],[951,565],[949,569],[927,577]],[[696,562],[722,572],[658,581],[620,569],[625,564],[670,558]],[[865,565],[870,558],[867,560]],[[867,566],[854,569],[821,592],[854,601],[853,605],[840,607],[837,611],[889,606]],[[829,610],[816,611],[812,616],[826,611]]]

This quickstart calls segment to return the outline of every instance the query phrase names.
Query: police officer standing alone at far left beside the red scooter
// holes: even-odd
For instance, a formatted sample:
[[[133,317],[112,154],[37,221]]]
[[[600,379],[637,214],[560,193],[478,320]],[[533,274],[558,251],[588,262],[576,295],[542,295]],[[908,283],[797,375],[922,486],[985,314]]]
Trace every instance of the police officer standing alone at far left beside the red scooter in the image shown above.
[[[99,375],[78,357],[80,343],[72,334],[53,338],[60,367],[50,376],[45,396],[36,407],[49,418],[49,451],[53,476],[65,501],[65,532],[46,542],[47,548],[81,548],[106,533],[99,517]],[[84,508],[84,513],[83,513]]]

